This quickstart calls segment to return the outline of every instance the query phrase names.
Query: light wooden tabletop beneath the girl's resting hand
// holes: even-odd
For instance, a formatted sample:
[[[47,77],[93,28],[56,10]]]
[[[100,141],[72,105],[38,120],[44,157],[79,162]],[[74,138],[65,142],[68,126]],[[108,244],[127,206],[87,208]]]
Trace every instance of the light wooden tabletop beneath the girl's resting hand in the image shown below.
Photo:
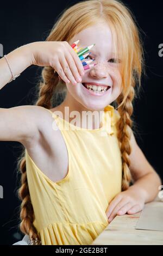
[[[135,229],[140,214],[116,216],[92,245],[163,245],[163,231]]]

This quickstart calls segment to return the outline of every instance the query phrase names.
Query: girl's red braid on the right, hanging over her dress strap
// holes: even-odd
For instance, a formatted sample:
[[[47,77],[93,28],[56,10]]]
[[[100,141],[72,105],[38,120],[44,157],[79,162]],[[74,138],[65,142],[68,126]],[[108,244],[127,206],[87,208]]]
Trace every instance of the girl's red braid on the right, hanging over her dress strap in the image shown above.
[[[134,99],[135,90],[134,87],[130,87],[130,92],[127,96],[127,99],[124,105],[120,105],[123,101],[123,95],[121,94],[117,98],[118,103],[118,112],[120,113],[120,119],[117,121],[117,138],[120,142],[121,146],[121,157],[122,157],[122,191],[127,190],[131,181],[131,173],[130,173],[130,161],[129,155],[131,153],[130,147],[130,132],[129,127],[131,128],[133,125],[133,120],[131,120],[131,115],[133,114],[133,104],[132,101]],[[129,126],[129,127],[128,127]]]

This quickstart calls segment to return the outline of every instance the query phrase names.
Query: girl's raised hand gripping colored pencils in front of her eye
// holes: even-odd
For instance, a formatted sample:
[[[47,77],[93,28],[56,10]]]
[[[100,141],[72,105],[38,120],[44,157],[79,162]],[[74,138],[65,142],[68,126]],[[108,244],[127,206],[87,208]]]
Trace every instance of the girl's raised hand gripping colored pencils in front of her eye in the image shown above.
[[[84,68],[77,53],[67,41],[32,42],[32,64],[52,66],[66,83],[82,81]]]

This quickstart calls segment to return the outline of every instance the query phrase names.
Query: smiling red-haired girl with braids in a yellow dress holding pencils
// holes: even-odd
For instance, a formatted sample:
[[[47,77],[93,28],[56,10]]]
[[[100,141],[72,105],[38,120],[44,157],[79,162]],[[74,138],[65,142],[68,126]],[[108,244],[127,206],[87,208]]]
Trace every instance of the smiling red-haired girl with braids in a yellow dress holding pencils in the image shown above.
[[[71,47],[77,40],[81,48],[95,44],[90,69]],[[161,184],[132,129],[143,67],[135,21],[119,1],[81,1],[65,10],[46,41],[5,57],[1,88],[30,65],[44,67],[36,106],[0,109],[1,141],[24,145],[20,229],[33,245],[90,245],[116,215],[141,211]],[[80,123],[94,111],[91,125]]]

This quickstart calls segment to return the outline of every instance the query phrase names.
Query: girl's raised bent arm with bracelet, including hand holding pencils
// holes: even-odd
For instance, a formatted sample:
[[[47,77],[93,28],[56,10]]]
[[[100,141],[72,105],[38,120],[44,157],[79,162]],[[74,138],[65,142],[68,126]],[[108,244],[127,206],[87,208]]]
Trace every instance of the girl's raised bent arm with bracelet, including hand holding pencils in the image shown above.
[[[21,74],[32,64],[52,66],[67,82],[77,80],[79,73],[84,71],[78,55],[66,41],[32,42],[8,53],[7,59],[14,75]],[[7,60],[3,57],[0,60],[0,89],[11,77]],[[14,86],[14,82],[11,83]],[[41,125],[41,111],[39,106],[0,108],[0,141],[24,143],[36,138]]]

